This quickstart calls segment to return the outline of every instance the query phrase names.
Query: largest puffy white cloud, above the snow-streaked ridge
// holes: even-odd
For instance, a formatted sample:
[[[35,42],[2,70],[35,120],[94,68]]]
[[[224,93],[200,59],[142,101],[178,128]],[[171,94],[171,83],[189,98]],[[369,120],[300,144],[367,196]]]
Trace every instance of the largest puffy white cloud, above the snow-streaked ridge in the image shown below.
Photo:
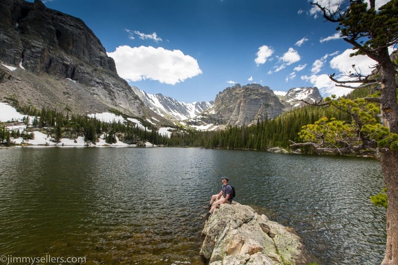
[[[152,79],[175,85],[202,74],[198,61],[180,50],[119,46],[108,56],[115,60],[117,73],[127,81]]]

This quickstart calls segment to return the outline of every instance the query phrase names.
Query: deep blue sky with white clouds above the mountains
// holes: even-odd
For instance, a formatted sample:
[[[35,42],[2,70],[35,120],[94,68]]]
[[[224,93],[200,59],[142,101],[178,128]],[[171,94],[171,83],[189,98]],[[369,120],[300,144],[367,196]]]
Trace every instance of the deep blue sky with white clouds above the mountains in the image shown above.
[[[348,0],[341,0],[348,3]],[[388,0],[379,0],[379,6]],[[339,0],[321,0],[336,5]],[[48,0],[82,19],[131,86],[178,101],[211,101],[234,84],[287,91],[317,86],[342,95],[327,75],[362,72],[351,47],[307,0]]]

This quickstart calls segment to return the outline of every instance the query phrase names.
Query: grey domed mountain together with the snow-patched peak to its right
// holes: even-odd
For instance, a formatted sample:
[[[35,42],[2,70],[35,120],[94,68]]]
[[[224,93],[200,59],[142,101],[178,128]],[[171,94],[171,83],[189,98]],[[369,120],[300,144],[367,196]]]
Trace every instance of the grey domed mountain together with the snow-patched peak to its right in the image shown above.
[[[280,93],[277,93],[278,95]],[[292,108],[300,108],[307,102],[322,99],[318,88],[292,88],[277,96],[268,86],[236,84],[218,93],[214,106],[188,124],[205,130],[224,128],[226,125],[247,126],[257,121],[272,119]]]

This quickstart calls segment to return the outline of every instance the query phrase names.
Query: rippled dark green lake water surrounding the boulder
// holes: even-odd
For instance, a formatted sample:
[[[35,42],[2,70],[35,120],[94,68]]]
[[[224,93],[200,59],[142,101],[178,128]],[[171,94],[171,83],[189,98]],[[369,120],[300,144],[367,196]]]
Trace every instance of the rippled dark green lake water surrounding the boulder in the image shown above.
[[[200,214],[222,176],[319,264],[381,263],[377,161],[200,148],[0,149],[0,255],[202,264]]]

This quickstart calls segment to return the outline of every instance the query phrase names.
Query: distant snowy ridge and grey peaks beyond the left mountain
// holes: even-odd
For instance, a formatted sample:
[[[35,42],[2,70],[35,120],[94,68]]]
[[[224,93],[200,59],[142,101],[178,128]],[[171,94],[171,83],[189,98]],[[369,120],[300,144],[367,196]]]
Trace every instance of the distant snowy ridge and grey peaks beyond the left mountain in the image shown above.
[[[272,119],[285,111],[301,108],[307,103],[322,99],[318,88],[291,88],[276,95],[267,86],[247,84],[226,88],[215,101],[176,101],[162,94],[151,95],[131,87],[144,105],[167,119],[196,128],[218,128],[223,125],[247,126],[254,122]]]

